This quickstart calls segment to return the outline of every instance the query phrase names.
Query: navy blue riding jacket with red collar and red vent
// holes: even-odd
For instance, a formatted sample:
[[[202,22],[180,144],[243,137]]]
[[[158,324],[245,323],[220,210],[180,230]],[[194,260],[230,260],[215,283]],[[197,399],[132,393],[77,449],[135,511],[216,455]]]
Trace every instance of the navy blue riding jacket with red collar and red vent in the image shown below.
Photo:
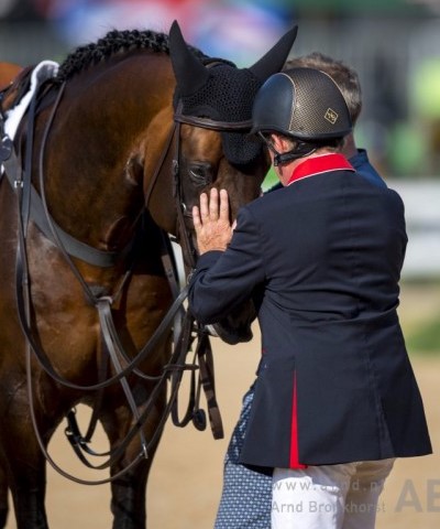
[[[392,190],[331,171],[241,208],[204,253],[189,309],[205,324],[250,296],[262,360],[241,462],[300,467],[431,452],[396,309],[407,236]]]

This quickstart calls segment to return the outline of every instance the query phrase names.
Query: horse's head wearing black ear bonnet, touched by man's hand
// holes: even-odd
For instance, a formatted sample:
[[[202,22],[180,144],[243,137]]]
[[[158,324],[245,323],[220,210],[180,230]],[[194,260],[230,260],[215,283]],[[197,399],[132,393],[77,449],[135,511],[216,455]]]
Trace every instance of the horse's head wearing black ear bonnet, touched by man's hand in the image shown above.
[[[220,60],[204,60],[187,46],[178,24],[169,32],[169,55],[176,77],[175,120],[179,131],[179,187],[186,228],[193,228],[190,212],[200,193],[226,188],[232,217],[241,205],[256,198],[270,168],[262,142],[252,137],[252,105],[256,91],[282,69],[297,29],[286,33],[250,68]],[[217,327],[229,343],[252,337],[252,303],[231,314]]]

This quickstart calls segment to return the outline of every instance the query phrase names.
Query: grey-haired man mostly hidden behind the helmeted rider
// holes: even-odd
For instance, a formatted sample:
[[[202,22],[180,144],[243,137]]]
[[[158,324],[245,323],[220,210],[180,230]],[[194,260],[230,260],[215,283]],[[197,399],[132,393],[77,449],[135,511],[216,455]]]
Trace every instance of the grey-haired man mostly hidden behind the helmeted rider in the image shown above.
[[[362,90],[358,73],[341,61],[319,52],[287,61],[285,69],[310,67],[330,75],[340,88],[349,108],[352,126],[362,110]],[[374,185],[386,183],[371,165],[367,153],[355,144],[353,130],[342,143],[341,153],[356,172]],[[279,182],[267,193],[282,188]],[[263,474],[239,463],[240,453],[251,413],[254,396],[252,386],[244,395],[240,419],[232,433],[224,458],[223,490],[217,512],[215,529],[267,529],[271,526],[272,475]]]

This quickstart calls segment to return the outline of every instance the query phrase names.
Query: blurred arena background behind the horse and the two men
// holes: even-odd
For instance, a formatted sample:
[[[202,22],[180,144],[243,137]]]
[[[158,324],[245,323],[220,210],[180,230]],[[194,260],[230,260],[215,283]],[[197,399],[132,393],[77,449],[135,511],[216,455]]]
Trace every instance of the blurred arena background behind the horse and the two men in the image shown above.
[[[96,41],[109,30],[135,28],[168,32],[175,19],[188,43],[211,56],[233,61],[240,67],[252,65],[286,30],[298,24],[293,56],[319,51],[358,71],[364,106],[356,125],[356,142],[367,149],[373,164],[406,205],[409,245],[399,314],[427,402],[436,450],[440,444],[437,411],[440,375],[440,0],[0,0],[0,62],[23,66],[47,58],[62,62],[69,51]],[[271,179],[273,175],[268,174],[265,186],[271,184]],[[253,348],[257,355],[258,347]],[[227,393],[228,384],[232,384],[227,371],[232,361],[237,366],[237,349],[221,355],[219,387]],[[251,379],[253,370],[252,363],[245,377]],[[239,396],[245,390],[245,382],[235,378],[240,387],[228,390],[223,401],[232,399],[233,395],[238,412]],[[232,425],[235,417],[229,419]],[[169,432],[169,446],[174,446],[178,434],[175,429]],[[186,446],[195,443],[193,439],[180,442]],[[208,444],[195,454],[198,460],[211,441],[204,443]],[[223,449],[224,445],[217,455],[217,471],[220,471]],[[209,451],[205,455],[209,468],[212,457]],[[166,465],[173,456],[174,449],[161,453],[156,476],[162,475],[161,472],[169,476]],[[381,527],[440,527],[439,488],[433,510],[424,503],[429,472],[429,483],[437,479],[440,487],[437,456],[436,461],[413,467],[414,472],[416,466],[428,468],[425,477],[419,476],[416,482],[417,499],[420,499],[425,518],[410,519],[404,509],[395,518],[393,514],[383,517]],[[173,460],[177,467],[180,463],[182,458]],[[408,478],[408,467],[403,468],[406,471],[395,478],[395,493],[392,493],[397,498]],[[163,486],[174,485],[176,483],[164,481]],[[216,487],[220,487],[219,476]],[[204,484],[200,489],[201,494],[208,494]],[[154,506],[160,509],[161,493],[155,494]],[[179,494],[183,494],[182,488]],[[200,501],[201,509],[205,504],[204,499]],[[206,501],[211,509],[208,519],[212,519],[217,496]],[[195,508],[190,498],[187,503]],[[163,517],[163,511],[157,516]],[[190,514],[178,510],[176,517],[190,519]],[[410,519],[408,525],[406,518]],[[210,527],[210,523],[191,523],[187,527]],[[58,527],[67,526],[63,522]],[[94,527],[100,526],[97,522]],[[186,525],[162,521],[152,527],[183,528]]]

